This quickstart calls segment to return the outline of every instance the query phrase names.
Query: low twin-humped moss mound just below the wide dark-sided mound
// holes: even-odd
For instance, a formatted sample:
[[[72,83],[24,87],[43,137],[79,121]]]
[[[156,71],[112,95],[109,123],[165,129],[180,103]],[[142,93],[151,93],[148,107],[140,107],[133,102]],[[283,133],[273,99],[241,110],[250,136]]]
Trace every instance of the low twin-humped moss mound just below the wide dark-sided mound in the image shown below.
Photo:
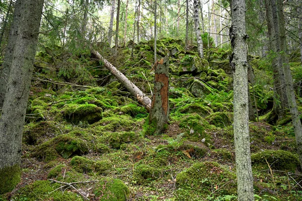
[[[108,160],[93,161],[91,159],[75,156],[71,159],[70,165],[74,170],[80,173],[92,173],[106,174],[111,169],[112,164]]]

